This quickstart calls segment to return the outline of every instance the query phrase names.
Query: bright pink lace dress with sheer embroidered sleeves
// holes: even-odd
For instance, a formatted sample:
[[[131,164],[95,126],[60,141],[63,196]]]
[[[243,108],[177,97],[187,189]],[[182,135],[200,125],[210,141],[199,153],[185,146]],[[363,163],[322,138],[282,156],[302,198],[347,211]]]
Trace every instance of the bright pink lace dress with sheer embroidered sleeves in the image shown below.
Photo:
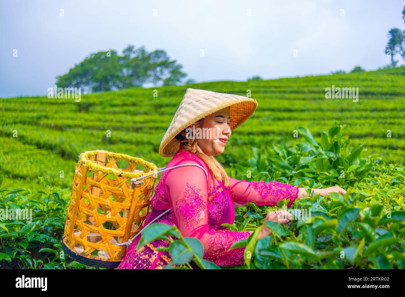
[[[219,266],[243,265],[245,247],[229,250],[238,240],[248,238],[247,231],[228,230],[221,224],[234,223],[234,203],[246,205],[276,205],[279,200],[290,199],[291,206],[298,196],[298,187],[287,183],[272,181],[239,181],[229,177],[228,187],[220,180],[214,180],[207,164],[196,154],[181,147],[167,164],[166,168],[179,164],[198,164],[183,166],[162,173],[155,194],[151,200],[151,211],[145,218],[146,226],[151,220],[171,209],[153,223],[175,224],[183,237],[198,238],[204,246],[203,259]],[[138,252],[138,236],[128,247],[124,259],[117,269],[161,269],[171,259],[167,252],[154,251],[157,246],[168,246],[168,240],[156,240],[143,246]],[[173,238],[175,239],[175,238]],[[190,263],[197,268],[194,262]]]

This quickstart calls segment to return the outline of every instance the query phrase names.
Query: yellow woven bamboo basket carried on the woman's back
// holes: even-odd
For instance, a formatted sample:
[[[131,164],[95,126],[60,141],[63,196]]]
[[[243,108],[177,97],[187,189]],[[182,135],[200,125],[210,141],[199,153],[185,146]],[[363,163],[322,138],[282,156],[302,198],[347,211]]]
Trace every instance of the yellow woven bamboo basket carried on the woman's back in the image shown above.
[[[126,169],[116,162],[126,160]],[[121,161],[120,161],[121,162]],[[140,164],[145,170],[135,169]],[[66,215],[62,247],[76,261],[116,268],[128,241],[141,230],[149,210],[156,175],[133,185],[131,178],[158,171],[155,164],[141,158],[103,150],[79,155]]]

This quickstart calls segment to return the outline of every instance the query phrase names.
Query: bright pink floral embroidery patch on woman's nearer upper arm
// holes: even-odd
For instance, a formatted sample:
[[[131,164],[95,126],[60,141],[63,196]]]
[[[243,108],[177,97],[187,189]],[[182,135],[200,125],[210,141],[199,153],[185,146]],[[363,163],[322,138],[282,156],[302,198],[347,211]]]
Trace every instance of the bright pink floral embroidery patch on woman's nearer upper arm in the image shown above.
[[[205,202],[200,191],[194,185],[187,183],[184,196],[176,202],[177,213],[183,216],[180,223],[185,224],[190,230],[194,230],[194,224],[198,223],[204,215]]]

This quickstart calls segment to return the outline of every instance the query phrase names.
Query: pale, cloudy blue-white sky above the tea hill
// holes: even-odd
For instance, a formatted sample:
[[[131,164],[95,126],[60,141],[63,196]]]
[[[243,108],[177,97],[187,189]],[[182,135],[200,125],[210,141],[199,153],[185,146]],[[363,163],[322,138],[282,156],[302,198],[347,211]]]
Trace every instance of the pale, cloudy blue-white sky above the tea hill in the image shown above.
[[[355,65],[375,70],[390,63],[384,55],[387,32],[405,29],[404,5],[403,0],[0,0],[0,97],[46,95],[55,76],[90,53],[109,48],[122,53],[128,44],[165,50],[196,82],[328,74]]]

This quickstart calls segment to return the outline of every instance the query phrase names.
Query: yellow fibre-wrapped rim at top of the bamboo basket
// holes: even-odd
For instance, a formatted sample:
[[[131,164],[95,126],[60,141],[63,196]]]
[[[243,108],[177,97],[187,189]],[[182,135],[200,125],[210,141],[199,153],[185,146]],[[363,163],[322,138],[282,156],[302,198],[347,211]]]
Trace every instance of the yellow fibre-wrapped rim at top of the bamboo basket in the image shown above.
[[[132,157],[132,156],[129,156],[126,154],[121,154],[121,153],[108,152],[106,150],[85,151],[85,152],[79,154],[79,162],[83,166],[85,166],[87,169],[90,169],[91,171],[101,171],[104,173],[113,174],[115,176],[137,178],[137,177],[141,177],[142,175],[144,175],[144,173],[145,173],[144,171],[143,172],[125,172],[125,171],[121,171],[121,170],[118,170],[115,168],[102,166],[100,164],[97,164],[96,161],[92,161],[89,159],[90,156],[96,156],[99,151],[106,152],[106,156],[109,156],[109,157],[114,157],[117,159],[124,159],[124,160],[127,160],[128,162],[136,162],[138,164],[141,164],[145,168],[151,170],[147,174],[151,174],[151,173],[157,172],[159,170],[158,166],[156,166],[155,164],[153,164],[151,162],[147,162],[147,161],[143,160],[142,158],[136,158],[136,157]]]

